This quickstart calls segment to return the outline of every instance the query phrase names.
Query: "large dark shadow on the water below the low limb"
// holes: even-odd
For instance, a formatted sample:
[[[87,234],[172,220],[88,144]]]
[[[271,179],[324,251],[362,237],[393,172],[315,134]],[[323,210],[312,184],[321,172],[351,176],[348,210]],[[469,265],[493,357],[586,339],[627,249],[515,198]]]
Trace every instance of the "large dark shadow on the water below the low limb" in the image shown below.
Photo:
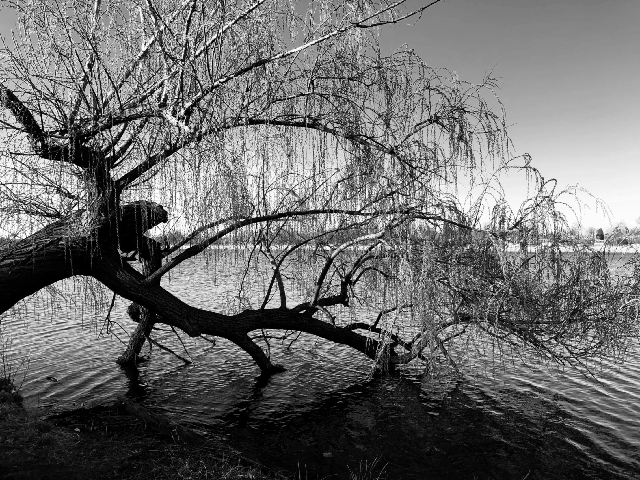
[[[485,392],[465,381],[435,399],[420,383],[376,374],[274,425],[252,417],[266,387],[260,380],[220,420],[234,447],[308,479],[349,478],[376,460],[392,479],[635,478],[572,428],[572,415],[553,399]]]

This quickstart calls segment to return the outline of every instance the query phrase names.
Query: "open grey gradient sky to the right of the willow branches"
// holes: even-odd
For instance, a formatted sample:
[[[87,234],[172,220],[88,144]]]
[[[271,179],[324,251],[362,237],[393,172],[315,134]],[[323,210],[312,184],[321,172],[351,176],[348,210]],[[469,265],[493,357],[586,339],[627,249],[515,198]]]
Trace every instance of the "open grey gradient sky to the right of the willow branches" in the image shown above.
[[[447,0],[414,26],[385,31],[387,51],[403,43],[472,83],[494,70],[516,154],[531,154],[559,186],[579,184],[605,200],[614,223],[636,224],[639,0]],[[608,225],[593,210],[582,220]]]

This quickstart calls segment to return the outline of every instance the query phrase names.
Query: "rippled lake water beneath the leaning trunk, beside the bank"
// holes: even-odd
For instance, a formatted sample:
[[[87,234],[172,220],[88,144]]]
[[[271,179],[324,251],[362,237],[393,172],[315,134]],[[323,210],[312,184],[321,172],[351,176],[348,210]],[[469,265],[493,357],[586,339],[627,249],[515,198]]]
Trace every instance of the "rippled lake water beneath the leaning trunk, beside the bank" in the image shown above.
[[[194,277],[190,268],[165,286],[191,305],[220,308],[234,273]],[[22,385],[29,406],[76,408],[129,396],[309,479],[349,478],[349,468],[376,458],[390,479],[640,477],[637,349],[598,385],[572,371],[559,376],[516,362],[499,376],[451,376],[433,388],[420,365],[372,374],[364,355],[303,334],[290,350],[272,344],[273,362],[288,370],[264,383],[230,342],[212,346],[183,335],[194,365],[154,349],[135,373],[114,363],[124,346],[99,335],[100,321],[83,308],[92,301],[74,294],[72,282],[58,287],[68,301],[57,308],[30,301],[3,321],[14,335],[14,361],[30,349]],[[131,331],[127,305],[118,298],[111,317]],[[125,339],[123,330],[114,332]],[[170,331],[156,339],[182,351]]]

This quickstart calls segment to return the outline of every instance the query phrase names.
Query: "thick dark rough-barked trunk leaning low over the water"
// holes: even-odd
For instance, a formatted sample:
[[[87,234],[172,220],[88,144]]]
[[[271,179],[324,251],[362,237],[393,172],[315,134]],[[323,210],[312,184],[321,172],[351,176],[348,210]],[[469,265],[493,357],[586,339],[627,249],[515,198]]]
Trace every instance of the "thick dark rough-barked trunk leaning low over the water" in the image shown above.
[[[79,221],[81,217],[83,212],[78,212],[76,216],[52,223],[0,250],[0,314],[58,280],[74,275],[91,275],[140,307],[140,322],[127,352],[120,357],[122,360],[128,360],[127,355],[129,359],[137,358],[145,335],[148,336],[154,322],[180,328],[190,337],[204,333],[231,340],[251,355],[265,374],[282,371],[282,367],[271,364],[268,356],[248,335],[263,328],[311,333],[351,346],[372,359],[377,357],[380,342],[353,331],[364,328],[379,332],[375,326],[354,324],[338,327],[312,317],[312,312],[303,311],[305,308],[298,308],[300,306],[245,310],[227,316],[191,307],[164,290],[159,282],[146,279],[160,265],[159,244],[142,234],[166,221],[167,214],[161,205],[134,202],[123,205],[110,216],[89,217],[86,222]],[[132,268],[118,250],[138,250],[143,260],[144,275]],[[338,303],[344,301],[342,296],[334,300]],[[334,305],[335,301],[319,302],[318,305]],[[392,356],[392,363],[405,361],[397,354]]]

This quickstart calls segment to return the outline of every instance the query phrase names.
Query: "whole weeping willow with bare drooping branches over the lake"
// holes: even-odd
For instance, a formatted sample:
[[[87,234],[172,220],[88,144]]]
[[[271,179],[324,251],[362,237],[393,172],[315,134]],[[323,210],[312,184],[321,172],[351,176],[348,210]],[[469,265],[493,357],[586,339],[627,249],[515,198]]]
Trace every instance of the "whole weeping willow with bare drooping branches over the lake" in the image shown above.
[[[484,337],[573,365],[624,353],[633,278],[566,253],[548,182],[513,211],[488,182],[511,165],[492,79],[381,51],[381,28],[435,3],[11,2],[0,312],[92,276],[133,302],[122,363],[157,323],[225,337],[264,372],[278,367],[254,340],[292,332],[383,367],[461,371]],[[148,233],[162,223],[182,241]],[[222,261],[220,243],[243,255],[226,311],[163,288],[196,255]]]

